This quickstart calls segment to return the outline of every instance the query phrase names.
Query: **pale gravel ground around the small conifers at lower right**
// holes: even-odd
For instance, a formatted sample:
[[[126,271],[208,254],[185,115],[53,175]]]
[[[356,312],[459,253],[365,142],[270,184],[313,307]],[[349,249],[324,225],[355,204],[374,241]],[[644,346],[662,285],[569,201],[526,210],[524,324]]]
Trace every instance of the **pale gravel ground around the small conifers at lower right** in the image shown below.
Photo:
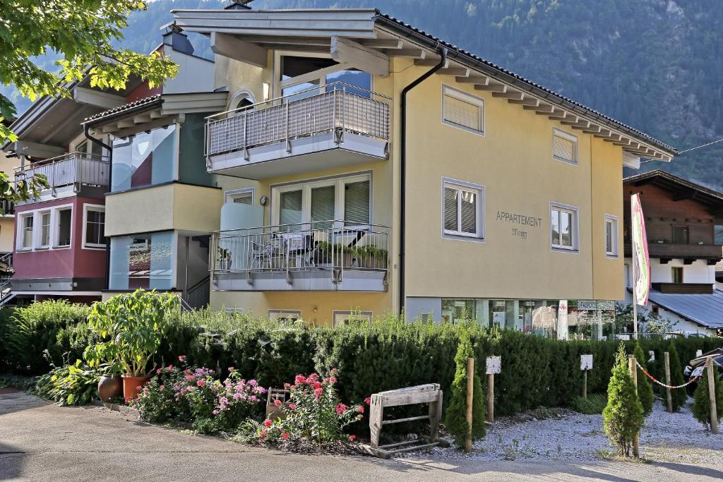
[[[550,418],[536,413],[500,418],[487,429],[484,440],[465,455],[453,448],[432,449],[434,459],[472,458],[492,460],[601,460],[614,452],[602,431],[602,416],[582,415],[570,410],[549,410]],[[548,413],[549,415],[549,413]],[[523,420],[521,421],[522,419]],[[641,457],[654,462],[706,463],[723,465],[723,434],[711,435],[690,413],[690,404],[679,413],[667,413],[656,402],[640,436]],[[412,452],[410,457],[421,455]]]

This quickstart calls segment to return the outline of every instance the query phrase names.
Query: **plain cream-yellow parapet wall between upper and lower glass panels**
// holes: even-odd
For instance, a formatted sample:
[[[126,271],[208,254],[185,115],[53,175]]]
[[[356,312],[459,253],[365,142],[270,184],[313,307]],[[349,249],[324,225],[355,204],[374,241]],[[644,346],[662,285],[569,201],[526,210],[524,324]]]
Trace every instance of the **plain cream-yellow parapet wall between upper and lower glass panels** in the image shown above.
[[[223,191],[163,184],[106,196],[106,236],[179,230],[205,234],[221,225]]]

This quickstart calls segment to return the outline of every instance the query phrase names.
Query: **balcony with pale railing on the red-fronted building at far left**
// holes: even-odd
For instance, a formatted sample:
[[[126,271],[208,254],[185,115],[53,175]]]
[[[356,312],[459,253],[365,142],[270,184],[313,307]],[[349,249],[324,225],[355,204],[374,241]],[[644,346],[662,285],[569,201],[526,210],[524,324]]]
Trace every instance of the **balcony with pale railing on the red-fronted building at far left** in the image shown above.
[[[111,164],[106,156],[70,152],[15,168],[15,183],[30,181],[37,174],[46,176],[48,188],[40,192],[40,198],[28,199],[28,203],[77,194],[102,198],[108,191],[110,171]]]

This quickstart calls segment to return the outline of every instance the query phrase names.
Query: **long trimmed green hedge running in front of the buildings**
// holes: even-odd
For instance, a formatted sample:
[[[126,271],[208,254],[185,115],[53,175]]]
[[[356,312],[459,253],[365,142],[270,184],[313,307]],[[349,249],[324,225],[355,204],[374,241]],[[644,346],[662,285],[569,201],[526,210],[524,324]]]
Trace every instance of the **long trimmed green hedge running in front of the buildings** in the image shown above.
[[[0,334],[12,334],[3,343],[0,368],[24,374],[48,371],[49,362],[80,358],[90,343],[85,325],[87,307],[45,301],[12,314],[0,313]],[[156,356],[158,366],[187,355],[189,363],[226,370],[234,366],[266,387],[282,387],[296,374],[327,373],[338,369],[338,389],[345,402],[359,402],[374,392],[439,383],[448,392],[455,364],[459,330],[469,330],[476,367],[486,384],[484,359],[502,356],[502,373],[495,378],[495,412],[515,413],[539,405],[571,403],[581,393],[580,356],[591,353],[594,368],[588,374],[588,392],[602,393],[615,359],[618,342],[547,340],[521,332],[483,330],[474,324],[423,324],[394,317],[374,324],[337,328],[307,328],[244,314],[196,311],[171,320],[168,336]],[[654,350],[649,363],[662,376],[662,353],[669,340],[641,340],[644,353]],[[723,345],[721,338],[675,340],[681,363],[696,350]],[[628,343],[632,353],[633,343]],[[486,388],[485,388],[486,390]]]

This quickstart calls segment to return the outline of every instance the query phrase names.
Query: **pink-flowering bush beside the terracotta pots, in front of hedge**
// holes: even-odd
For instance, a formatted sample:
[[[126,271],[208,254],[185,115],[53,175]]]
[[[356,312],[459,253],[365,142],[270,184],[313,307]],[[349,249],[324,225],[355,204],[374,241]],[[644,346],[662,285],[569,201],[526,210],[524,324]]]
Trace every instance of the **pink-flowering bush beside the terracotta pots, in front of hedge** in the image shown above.
[[[179,356],[182,366],[185,361],[185,356]],[[156,370],[156,376],[130,404],[146,421],[173,419],[192,423],[202,432],[234,431],[259,410],[260,395],[266,390],[256,380],[241,379],[239,371],[229,371],[222,383],[211,369],[166,366]]]

